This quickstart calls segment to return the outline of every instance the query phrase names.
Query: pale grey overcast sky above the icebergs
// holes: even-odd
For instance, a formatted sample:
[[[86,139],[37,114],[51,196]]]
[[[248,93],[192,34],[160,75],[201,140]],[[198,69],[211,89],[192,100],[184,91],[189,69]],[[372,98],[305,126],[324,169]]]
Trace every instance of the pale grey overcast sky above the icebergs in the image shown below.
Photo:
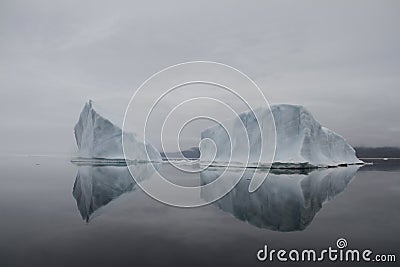
[[[399,1],[0,2],[1,153],[71,154],[93,99],[122,116],[155,72],[210,60],[352,145],[400,145]]]

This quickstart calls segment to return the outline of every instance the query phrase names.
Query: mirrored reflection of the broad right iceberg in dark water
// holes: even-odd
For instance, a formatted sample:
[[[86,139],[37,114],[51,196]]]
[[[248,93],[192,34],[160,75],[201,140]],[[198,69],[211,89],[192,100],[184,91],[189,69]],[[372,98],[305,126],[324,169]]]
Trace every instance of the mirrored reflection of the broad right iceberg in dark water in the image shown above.
[[[285,173],[271,170],[260,188],[249,193],[249,177],[254,169],[244,173],[236,187],[214,205],[259,228],[275,231],[304,230],[322,204],[342,192],[359,166],[317,169],[310,173]],[[201,173],[202,183],[216,179],[223,169]],[[235,175],[234,170],[227,170]],[[203,194],[204,198],[207,198]]]

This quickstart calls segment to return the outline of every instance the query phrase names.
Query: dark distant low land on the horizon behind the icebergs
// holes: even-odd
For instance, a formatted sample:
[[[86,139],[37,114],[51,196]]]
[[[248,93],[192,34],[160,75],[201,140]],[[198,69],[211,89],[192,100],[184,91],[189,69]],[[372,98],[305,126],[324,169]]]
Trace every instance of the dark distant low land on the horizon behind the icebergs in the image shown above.
[[[400,147],[354,147],[357,157],[359,158],[400,158]],[[161,152],[161,156],[165,158],[166,154],[170,158],[181,158],[179,152]],[[182,151],[185,158],[197,159],[200,157],[200,151],[197,147],[192,147]]]

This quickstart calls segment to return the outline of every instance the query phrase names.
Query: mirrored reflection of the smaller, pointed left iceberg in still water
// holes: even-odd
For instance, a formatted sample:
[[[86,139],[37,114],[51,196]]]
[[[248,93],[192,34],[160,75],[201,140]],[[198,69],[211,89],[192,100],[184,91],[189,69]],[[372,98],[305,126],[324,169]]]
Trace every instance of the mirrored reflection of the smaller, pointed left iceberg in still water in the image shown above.
[[[151,164],[145,163],[136,164],[133,170],[133,175],[140,180],[154,173]],[[72,194],[82,219],[89,222],[96,210],[136,188],[136,182],[126,165],[80,165]]]

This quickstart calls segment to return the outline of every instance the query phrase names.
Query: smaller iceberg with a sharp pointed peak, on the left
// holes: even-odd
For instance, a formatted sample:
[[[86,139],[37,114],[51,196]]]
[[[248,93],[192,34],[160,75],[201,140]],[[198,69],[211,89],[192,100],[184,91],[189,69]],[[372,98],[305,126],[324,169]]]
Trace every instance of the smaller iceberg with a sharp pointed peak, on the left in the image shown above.
[[[99,113],[98,108],[94,108],[93,101],[89,100],[85,104],[74,128],[81,159],[124,160],[122,127],[104,116]],[[161,161],[157,149],[141,140],[135,133],[124,133],[124,139],[135,148],[130,154],[132,158],[128,160]]]

